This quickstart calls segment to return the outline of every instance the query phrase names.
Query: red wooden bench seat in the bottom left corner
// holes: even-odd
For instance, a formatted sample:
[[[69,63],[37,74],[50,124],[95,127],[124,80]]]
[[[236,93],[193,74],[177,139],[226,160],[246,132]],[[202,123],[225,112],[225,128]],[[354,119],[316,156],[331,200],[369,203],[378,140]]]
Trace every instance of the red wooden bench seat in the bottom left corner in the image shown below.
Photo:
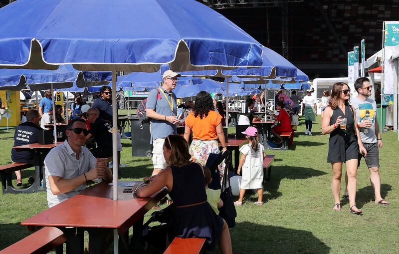
[[[44,227],[0,251],[0,254],[44,254],[66,242],[61,230]]]

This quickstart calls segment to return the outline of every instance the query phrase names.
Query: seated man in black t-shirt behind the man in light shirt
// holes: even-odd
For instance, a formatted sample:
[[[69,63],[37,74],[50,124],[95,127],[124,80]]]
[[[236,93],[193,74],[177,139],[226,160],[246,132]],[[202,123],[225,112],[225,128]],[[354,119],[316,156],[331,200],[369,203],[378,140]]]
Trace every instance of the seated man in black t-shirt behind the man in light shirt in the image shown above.
[[[112,156],[111,125],[99,117],[98,108],[87,110],[87,120],[90,123],[89,135],[86,140],[94,136],[97,147],[92,150],[96,158],[108,158]]]

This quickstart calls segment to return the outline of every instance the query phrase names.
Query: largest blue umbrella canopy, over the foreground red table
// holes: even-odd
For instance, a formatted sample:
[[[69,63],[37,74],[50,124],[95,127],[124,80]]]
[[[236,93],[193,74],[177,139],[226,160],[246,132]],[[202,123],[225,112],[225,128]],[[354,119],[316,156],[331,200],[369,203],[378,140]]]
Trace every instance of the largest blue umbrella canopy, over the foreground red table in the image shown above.
[[[150,72],[162,63],[176,71],[262,65],[258,41],[195,0],[18,0],[0,9],[0,23],[0,48],[12,49],[1,50],[0,65],[9,67],[74,63],[109,71],[118,64]]]

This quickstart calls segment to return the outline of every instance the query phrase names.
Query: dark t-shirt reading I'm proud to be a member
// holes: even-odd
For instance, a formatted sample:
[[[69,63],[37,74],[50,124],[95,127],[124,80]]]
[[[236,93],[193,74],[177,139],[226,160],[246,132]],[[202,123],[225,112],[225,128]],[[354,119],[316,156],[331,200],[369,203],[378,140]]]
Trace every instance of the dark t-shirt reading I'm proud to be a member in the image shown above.
[[[39,142],[40,131],[42,131],[42,129],[34,123],[21,123],[15,129],[13,146],[22,146]],[[12,148],[11,160],[13,162],[31,162],[33,160],[33,150],[15,150]]]

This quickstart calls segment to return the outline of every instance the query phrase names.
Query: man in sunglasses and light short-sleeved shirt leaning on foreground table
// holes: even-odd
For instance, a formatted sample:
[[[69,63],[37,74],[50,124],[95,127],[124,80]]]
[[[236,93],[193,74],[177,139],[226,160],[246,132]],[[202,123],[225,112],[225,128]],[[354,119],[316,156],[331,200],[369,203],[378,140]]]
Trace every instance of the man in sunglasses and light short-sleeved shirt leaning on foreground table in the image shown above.
[[[65,132],[65,142],[51,149],[44,159],[48,207],[81,193],[89,180],[112,180],[106,159],[96,159],[83,147],[89,134],[86,122],[74,119],[68,123]]]

